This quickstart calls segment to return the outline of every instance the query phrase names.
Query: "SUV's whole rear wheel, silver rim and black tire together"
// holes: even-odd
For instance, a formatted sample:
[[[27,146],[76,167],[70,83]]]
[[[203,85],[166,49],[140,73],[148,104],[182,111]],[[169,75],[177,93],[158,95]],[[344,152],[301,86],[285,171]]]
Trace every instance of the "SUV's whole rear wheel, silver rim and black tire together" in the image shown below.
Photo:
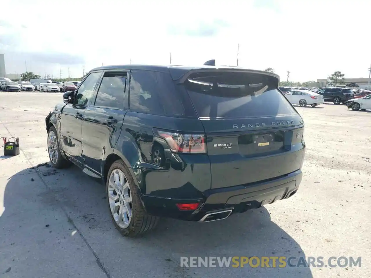
[[[106,193],[112,221],[122,235],[139,236],[157,226],[160,218],[145,211],[139,189],[121,159],[108,171]]]

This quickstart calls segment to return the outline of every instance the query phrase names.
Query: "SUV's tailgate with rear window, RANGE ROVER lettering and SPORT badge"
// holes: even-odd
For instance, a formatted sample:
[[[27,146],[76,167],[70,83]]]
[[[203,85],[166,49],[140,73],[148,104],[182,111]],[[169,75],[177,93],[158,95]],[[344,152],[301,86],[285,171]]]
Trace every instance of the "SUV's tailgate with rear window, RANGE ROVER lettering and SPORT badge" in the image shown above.
[[[301,168],[303,121],[269,73],[218,71],[184,82],[207,138],[211,188],[264,181]]]

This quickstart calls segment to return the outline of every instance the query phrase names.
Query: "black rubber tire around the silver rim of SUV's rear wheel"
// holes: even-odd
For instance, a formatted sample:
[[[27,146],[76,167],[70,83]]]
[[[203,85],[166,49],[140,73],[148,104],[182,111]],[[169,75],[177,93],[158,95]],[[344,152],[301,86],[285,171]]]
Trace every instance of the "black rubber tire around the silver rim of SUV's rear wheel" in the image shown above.
[[[109,184],[109,177],[111,176],[112,171],[115,169],[120,169],[129,183],[130,188],[130,195],[132,199],[132,215],[131,220],[127,228],[121,228],[117,225],[112,213],[111,208],[109,205],[109,192],[108,192],[108,184]],[[128,237],[136,237],[140,236],[146,232],[152,231],[158,224],[160,217],[148,214],[144,206],[142,205],[142,201],[140,198],[140,192],[138,187],[135,185],[134,179],[132,178],[127,166],[125,165],[124,161],[121,159],[116,160],[112,163],[111,167],[109,168],[107,180],[106,180],[106,194],[107,194],[107,205],[109,210],[109,215],[111,215],[112,222],[116,229],[123,235]]]

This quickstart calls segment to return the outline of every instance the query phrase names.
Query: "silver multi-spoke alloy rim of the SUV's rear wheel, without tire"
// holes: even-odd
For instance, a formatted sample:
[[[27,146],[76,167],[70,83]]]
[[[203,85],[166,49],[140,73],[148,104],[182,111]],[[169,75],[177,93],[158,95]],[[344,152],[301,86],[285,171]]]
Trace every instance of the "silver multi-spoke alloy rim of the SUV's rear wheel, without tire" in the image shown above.
[[[109,207],[116,224],[125,229],[132,216],[132,198],[128,179],[120,169],[114,169],[108,182]]]

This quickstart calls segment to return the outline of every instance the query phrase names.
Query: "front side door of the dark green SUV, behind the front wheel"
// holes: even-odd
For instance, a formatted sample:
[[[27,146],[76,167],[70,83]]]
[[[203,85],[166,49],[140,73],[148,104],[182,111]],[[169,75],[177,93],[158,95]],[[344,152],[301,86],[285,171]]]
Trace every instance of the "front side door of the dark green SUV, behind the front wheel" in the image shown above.
[[[95,96],[96,84],[102,72],[92,72],[82,81],[82,86],[75,92],[74,103],[62,109],[60,138],[63,150],[79,166],[83,166],[82,154],[82,116]]]

